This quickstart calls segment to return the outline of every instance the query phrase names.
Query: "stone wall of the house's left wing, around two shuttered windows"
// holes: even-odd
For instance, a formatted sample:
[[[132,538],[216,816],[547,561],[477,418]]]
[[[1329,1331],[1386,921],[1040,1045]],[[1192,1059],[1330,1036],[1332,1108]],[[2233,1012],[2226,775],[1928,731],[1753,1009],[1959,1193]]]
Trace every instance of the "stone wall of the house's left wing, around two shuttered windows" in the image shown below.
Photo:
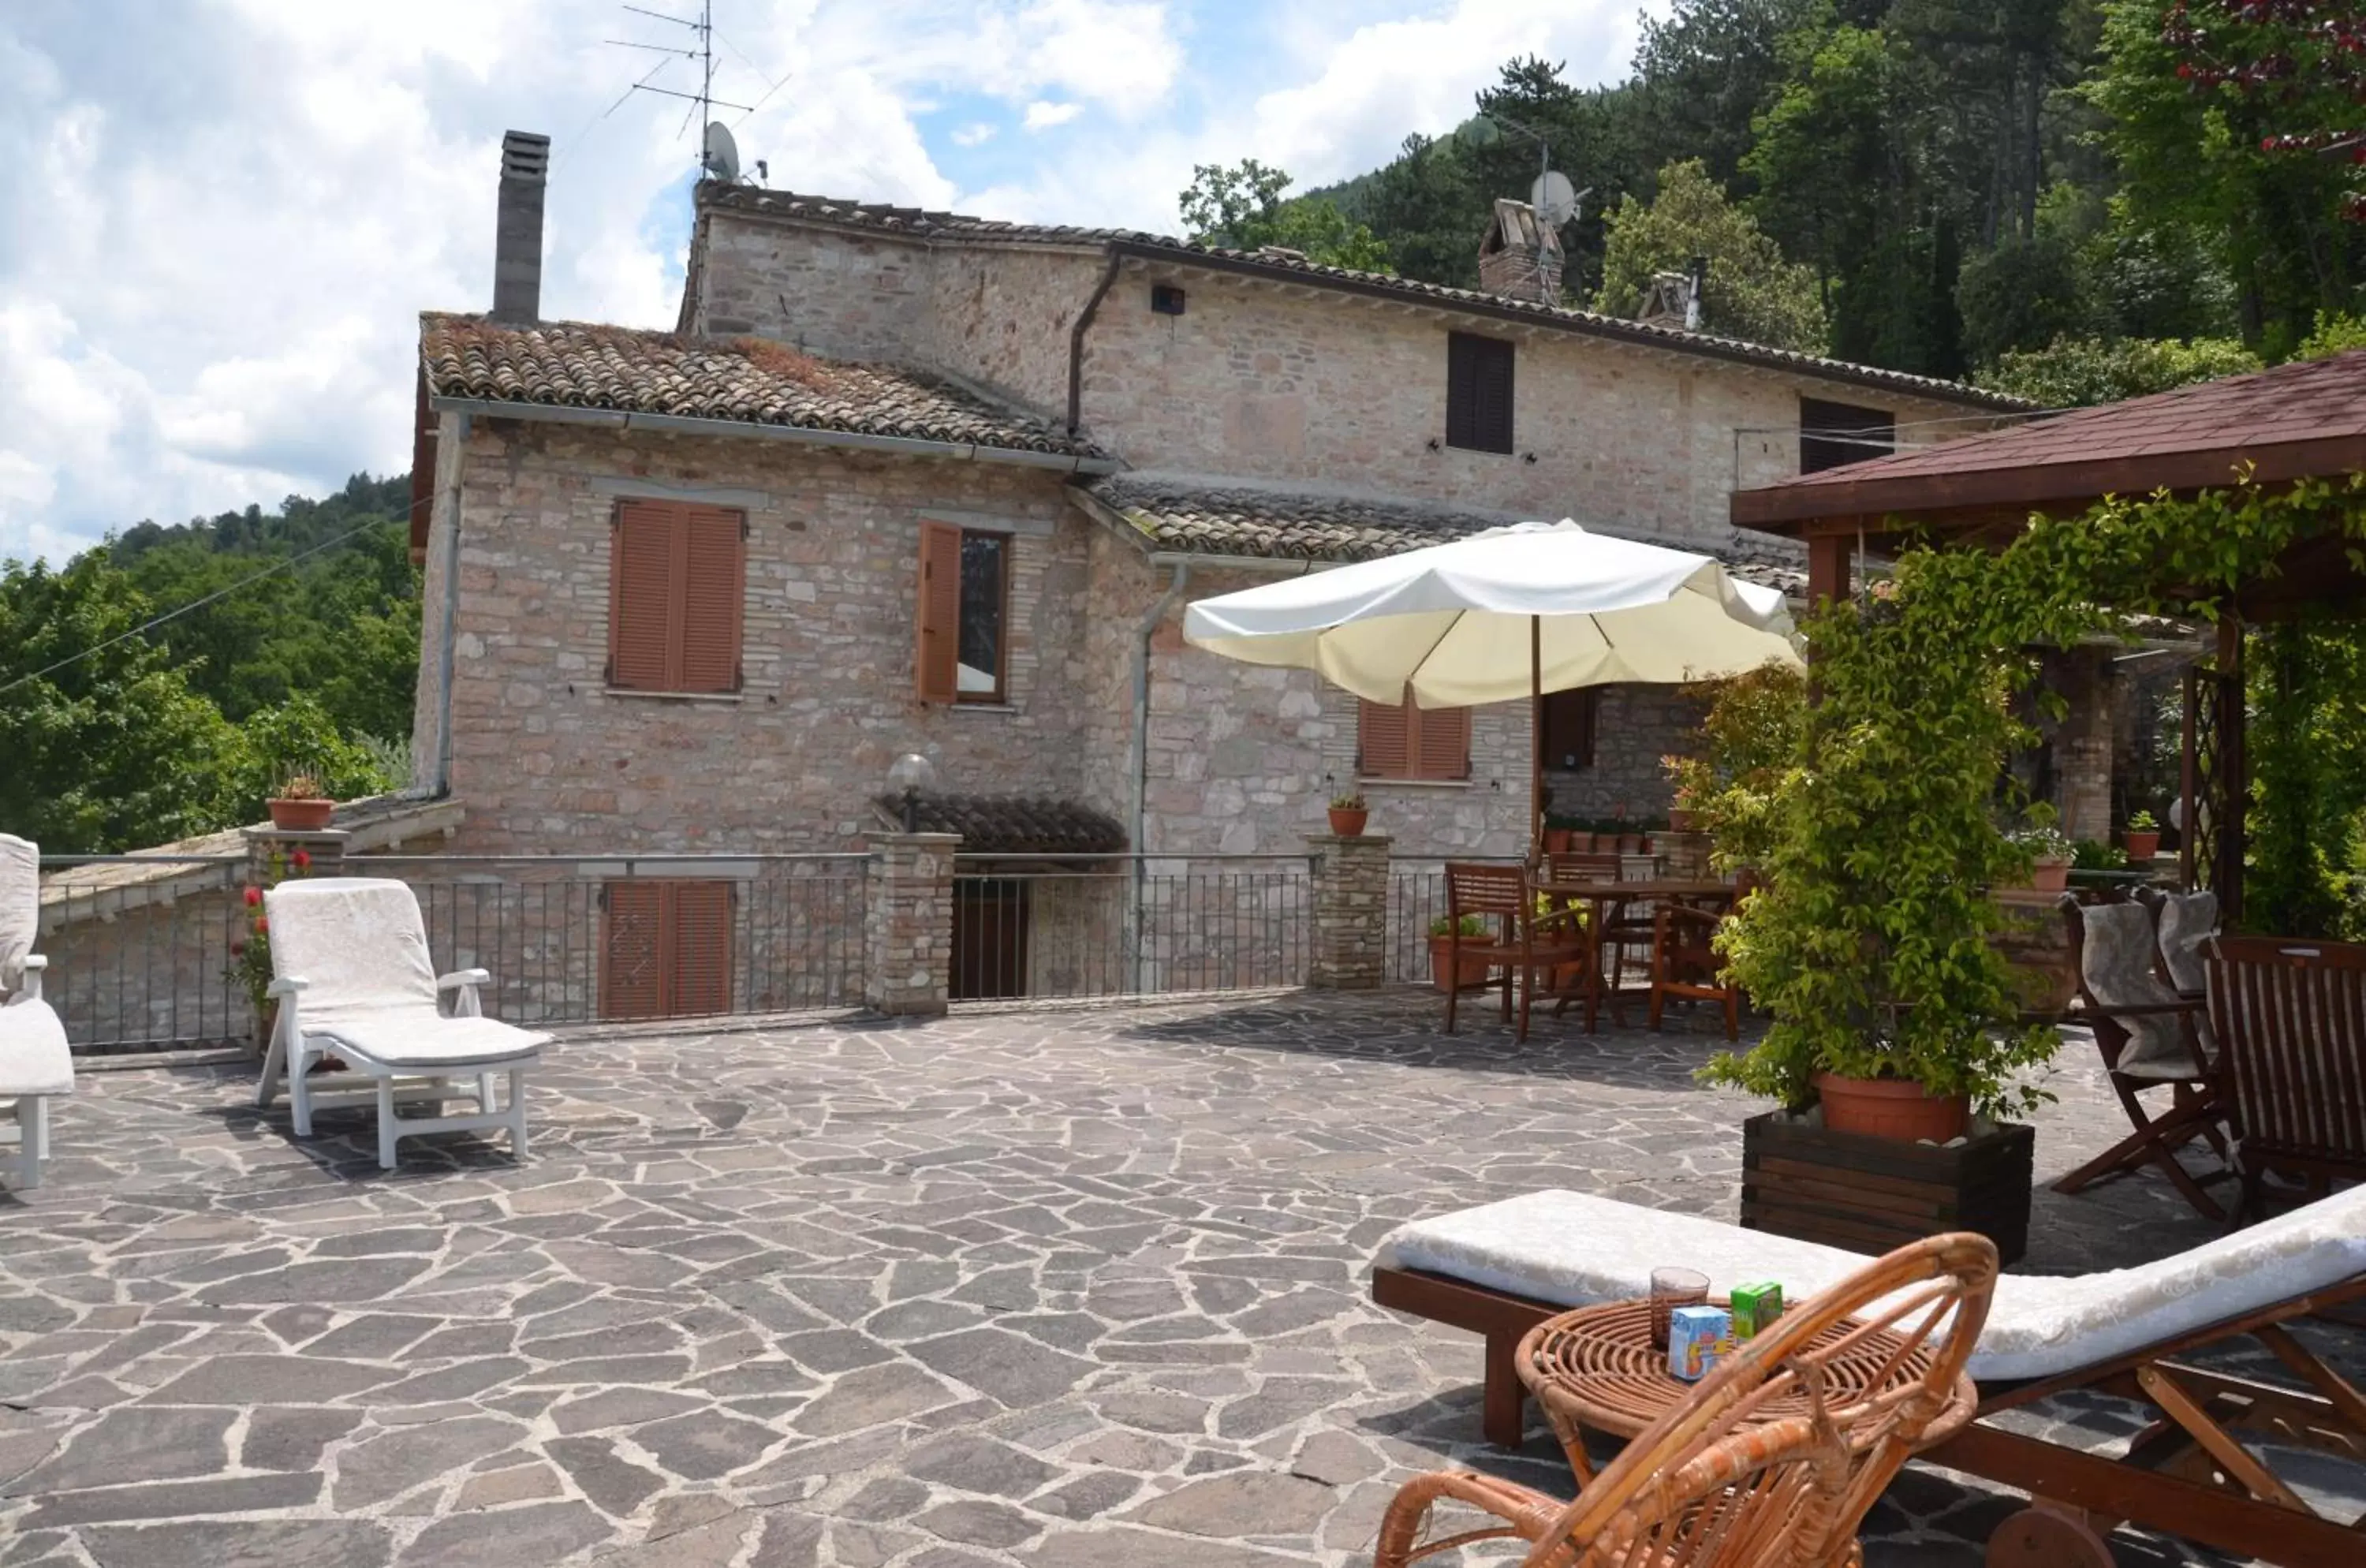
[[[748,511],[741,693],[603,688],[620,492]],[[1006,705],[913,698],[923,513],[1015,532]],[[946,790],[1072,797],[1084,783],[1093,525],[1055,473],[478,421],[461,520],[459,849],[847,849],[909,750]],[[447,523],[438,513],[431,561]],[[431,700],[416,740],[431,754]]]

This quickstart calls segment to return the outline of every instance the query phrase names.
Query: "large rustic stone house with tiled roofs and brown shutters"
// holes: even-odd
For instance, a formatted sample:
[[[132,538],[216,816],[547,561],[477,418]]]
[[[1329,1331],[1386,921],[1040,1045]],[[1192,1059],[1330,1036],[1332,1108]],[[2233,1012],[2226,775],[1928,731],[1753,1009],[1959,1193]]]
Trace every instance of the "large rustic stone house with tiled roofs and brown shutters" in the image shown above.
[[[707,182],[677,331],[542,322],[539,180],[513,137],[494,312],[421,319],[414,757],[468,854],[849,849],[904,752],[1029,802],[968,854],[1287,854],[1351,788],[1403,854],[1517,854],[1521,705],[1228,665],[1185,601],[1564,516],[1796,589],[1732,490],[2018,407],[1569,310],[1521,203],[1491,293]],[[1557,700],[1557,811],[1656,816],[1687,728]]]

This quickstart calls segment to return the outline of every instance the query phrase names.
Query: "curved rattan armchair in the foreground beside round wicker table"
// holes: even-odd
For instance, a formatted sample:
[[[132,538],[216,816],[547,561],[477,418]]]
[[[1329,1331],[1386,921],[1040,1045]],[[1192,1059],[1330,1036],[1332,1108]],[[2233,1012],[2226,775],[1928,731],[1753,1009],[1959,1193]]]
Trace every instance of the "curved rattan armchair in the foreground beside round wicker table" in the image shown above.
[[[1987,1237],[1957,1232],[1900,1246],[1784,1313],[1628,1443],[1576,1502],[1472,1471],[1408,1480],[1382,1516],[1372,1563],[1405,1568],[1481,1540],[1528,1542],[1526,1568],[1862,1561],[1857,1521],[1954,1400],[1995,1282]],[[1827,1405],[1824,1367],[1860,1353],[1879,1329],[1905,1343],[1898,1355],[1935,1346],[1926,1374],[1857,1405]],[[1872,1386],[1883,1381],[1874,1376]],[[1808,1414],[1758,1414],[1801,1395]],[[1422,1540],[1446,1499],[1495,1523]]]

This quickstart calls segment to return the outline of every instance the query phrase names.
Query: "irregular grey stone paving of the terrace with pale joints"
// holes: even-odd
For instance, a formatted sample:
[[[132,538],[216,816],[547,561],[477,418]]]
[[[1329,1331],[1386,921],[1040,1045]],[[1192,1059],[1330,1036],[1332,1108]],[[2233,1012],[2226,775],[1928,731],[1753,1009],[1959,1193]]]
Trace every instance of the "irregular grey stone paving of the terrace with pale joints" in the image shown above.
[[[1370,1305],[1375,1242],[1543,1185],[1730,1218],[1713,1048],[1410,993],[575,1036],[525,1166],[395,1175],[234,1069],[85,1074],[0,1197],[0,1568],[1360,1563],[1413,1471],[1569,1485],[1479,1443],[1476,1341]],[[2118,1130],[2089,1055],[2039,1180]],[[2139,1178],[2037,1235],[2212,1227]],[[1907,1471],[1869,1561],[1978,1563],[2013,1507]]]

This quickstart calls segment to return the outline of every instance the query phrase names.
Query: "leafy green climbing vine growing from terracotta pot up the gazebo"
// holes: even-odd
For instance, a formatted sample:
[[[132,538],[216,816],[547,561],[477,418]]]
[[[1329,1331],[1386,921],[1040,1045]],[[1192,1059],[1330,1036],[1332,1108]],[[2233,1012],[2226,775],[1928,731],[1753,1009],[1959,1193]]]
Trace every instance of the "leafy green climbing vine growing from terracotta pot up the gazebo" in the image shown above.
[[[2013,707],[2030,650],[2110,634],[2120,613],[2217,620],[2295,539],[2366,534],[2361,506],[2361,478],[2113,497],[2035,518],[1999,553],[1907,549],[1879,591],[1810,615],[1817,700],[1774,788],[1767,887],[1722,937],[1774,1022],[1704,1076],[1786,1107],[1834,1071],[1961,1093],[1983,1114],[2032,1109],[2042,1093],[2021,1074],[2058,1036],[2018,1022],[1990,941],[2004,920],[1990,887],[2030,868],[2009,832],[2023,802],[1999,799],[2006,757],[2032,740]]]

